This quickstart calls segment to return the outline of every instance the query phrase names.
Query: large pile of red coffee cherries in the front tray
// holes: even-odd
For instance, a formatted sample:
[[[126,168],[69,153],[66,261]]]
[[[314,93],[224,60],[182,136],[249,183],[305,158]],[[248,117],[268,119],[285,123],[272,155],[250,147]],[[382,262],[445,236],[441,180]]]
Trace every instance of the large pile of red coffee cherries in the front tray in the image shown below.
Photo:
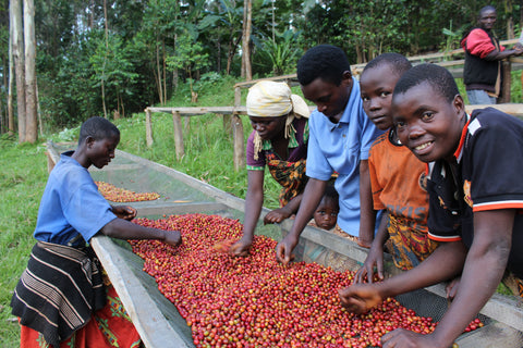
[[[186,214],[135,222],[182,234],[178,247],[130,243],[191,326],[196,347],[379,347],[380,337],[398,327],[428,334],[436,326],[392,298],[362,315],[344,311],[338,289],[351,285],[354,272],[282,265],[268,237],[255,236],[246,258],[220,252],[214,246],[241,237],[236,220]]]

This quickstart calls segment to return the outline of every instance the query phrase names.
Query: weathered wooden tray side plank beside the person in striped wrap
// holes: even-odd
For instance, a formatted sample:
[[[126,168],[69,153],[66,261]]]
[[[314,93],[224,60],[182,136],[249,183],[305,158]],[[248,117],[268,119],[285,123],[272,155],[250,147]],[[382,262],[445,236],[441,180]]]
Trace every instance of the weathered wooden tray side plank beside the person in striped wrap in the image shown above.
[[[167,322],[112,240],[99,235],[92,239],[92,245],[145,346],[165,348],[169,343],[170,347],[191,347]]]

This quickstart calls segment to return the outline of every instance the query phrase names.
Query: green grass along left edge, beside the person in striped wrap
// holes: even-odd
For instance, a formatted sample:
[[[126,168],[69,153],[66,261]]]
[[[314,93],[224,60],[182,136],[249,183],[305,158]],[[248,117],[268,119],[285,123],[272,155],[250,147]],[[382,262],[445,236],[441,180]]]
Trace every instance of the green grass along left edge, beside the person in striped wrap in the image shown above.
[[[34,245],[38,206],[47,179],[45,147],[0,137],[0,347],[17,347],[20,328],[9,306]],[[14,319],[15,320],[15,319]]]

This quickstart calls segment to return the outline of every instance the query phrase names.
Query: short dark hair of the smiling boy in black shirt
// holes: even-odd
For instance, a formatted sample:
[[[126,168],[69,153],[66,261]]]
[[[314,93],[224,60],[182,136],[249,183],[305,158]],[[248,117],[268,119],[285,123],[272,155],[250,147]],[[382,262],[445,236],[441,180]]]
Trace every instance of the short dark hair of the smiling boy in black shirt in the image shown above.
[[[445,67],[424,63],[405,72],[396,84],[393,96],[406,92],[423,83],[429,84],[441,97],[452,102],[460,94],[452,74]],[[393,97],[392,97],[393,98]]]

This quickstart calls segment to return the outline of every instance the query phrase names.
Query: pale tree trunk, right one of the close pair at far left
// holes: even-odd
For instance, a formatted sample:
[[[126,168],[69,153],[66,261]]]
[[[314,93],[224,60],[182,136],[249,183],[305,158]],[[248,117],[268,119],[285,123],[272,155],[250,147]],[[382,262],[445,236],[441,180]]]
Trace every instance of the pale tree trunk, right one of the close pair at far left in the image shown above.
[[[35,44],[35,2],[24,0],[24,41],[25,41],[25,140],[35,144],[38,140],[38,115],[36,105],[36,44]]]

